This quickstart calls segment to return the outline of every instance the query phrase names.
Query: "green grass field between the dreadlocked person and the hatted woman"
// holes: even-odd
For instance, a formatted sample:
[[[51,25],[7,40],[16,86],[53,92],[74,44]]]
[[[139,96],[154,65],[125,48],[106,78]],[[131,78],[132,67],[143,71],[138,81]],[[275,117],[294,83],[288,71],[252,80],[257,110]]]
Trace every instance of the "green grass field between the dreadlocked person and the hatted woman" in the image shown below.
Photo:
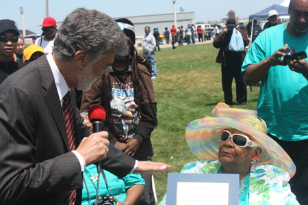
[[[218,102],[224,102],[220,64],[215,63],[218,49],[212,44],[177,46],[155,52],[157,79],[153,79],[158,109],[158,126],[151,135],[155,155],[153,161],[171,165],[169,172],[180,172],[185,163],[197,161],[185,140],[185,128],[205,115]],[[248,90],[247,106],[235,100],[233,82],[233,106],[242,109],[257,109],[259,87]],[[157,202],[166,193],[168,173],[157,173],[155,188]]]

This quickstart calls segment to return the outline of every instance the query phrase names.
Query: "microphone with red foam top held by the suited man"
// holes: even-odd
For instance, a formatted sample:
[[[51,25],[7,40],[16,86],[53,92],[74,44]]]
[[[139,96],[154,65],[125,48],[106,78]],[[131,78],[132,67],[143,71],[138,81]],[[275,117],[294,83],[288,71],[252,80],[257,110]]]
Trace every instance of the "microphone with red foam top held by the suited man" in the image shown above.
[[[93,125],[93,133],[101,132],[103,122],[106,119],[106,111],[101,105],[93,105],[89,109],[89,120]]]

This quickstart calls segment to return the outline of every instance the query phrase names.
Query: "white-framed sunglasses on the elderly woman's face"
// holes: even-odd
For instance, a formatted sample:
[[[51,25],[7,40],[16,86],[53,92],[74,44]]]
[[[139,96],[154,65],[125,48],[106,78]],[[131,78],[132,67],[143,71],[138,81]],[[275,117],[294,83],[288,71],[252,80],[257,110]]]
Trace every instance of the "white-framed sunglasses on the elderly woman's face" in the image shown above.
[[[238,146],[240,148],[246,148],[246,147],[257,147],[257,144],[253,141],[251,141],[247,136],[241,135],[241,134],[231,134],[229,131],[222,131],[220,133],[220,141],[225,142],[228,141],[231,137],[231,141],[235,146]]]

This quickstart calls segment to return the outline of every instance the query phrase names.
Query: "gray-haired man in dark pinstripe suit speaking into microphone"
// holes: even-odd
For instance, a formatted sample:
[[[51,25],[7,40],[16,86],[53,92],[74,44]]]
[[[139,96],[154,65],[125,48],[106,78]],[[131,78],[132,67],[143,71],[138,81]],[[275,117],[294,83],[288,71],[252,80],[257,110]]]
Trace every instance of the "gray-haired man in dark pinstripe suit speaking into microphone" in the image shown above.
[[[76,108],[70,88],[87,90],[127,51],[110,16],[81,8],[66,16],[53,53],[3,81],[0,204],[80,204],[82,171],[101,160],[118,177],[170,169],[131,159],[109,146],[105,132],[90,135]]]

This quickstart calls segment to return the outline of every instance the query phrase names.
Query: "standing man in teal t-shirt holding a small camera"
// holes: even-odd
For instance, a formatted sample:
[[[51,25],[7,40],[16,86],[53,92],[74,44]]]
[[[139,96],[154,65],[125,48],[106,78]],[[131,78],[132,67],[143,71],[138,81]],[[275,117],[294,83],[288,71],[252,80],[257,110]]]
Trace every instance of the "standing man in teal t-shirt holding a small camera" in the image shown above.
[[[308,1],[291,0],[290,22],[263,31],[242,66],[246,85],[261,81],[257,111],[268,135],[291,156],[296,174],[290,180],[300,204],[308,203],[308,64],[283,61],[288,46],[308,53]],[[281,59],[282,58],[282,59]]]

